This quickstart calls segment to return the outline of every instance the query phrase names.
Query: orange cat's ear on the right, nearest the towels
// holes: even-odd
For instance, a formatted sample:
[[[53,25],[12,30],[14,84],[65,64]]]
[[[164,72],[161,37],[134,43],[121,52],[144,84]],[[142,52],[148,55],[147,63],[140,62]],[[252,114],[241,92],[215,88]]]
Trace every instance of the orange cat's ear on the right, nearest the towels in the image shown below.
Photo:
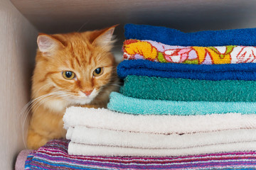
[[[112,44],[114,43],[113,40],[113,33],[114,28],[118,26],[112,26],[110,28],[105,28],[103,30],[97,30],[94,34],[94,40],[92,41],[92,44],[99,45],[99,46],[110,46],[112,47]]]

